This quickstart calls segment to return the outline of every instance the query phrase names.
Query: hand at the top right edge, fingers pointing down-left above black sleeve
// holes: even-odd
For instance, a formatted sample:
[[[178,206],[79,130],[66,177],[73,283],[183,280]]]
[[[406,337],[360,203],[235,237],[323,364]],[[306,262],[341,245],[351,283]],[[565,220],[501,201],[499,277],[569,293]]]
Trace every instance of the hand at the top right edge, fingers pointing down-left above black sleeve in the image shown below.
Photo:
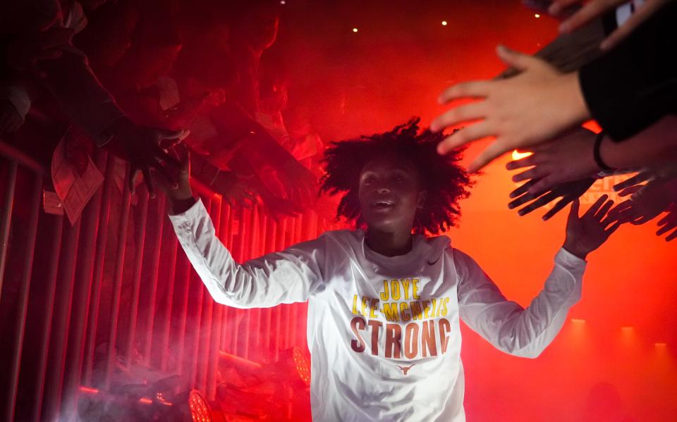
[[[606,37],[599,48],[602,50],[609,50],[614,48],[618,42],[633,32],[645,20],[650,18],[662,6],[668,3],[669,0],[646,0],[635,10],[635,13],[630,15],[623,25],[616,28],[611,35]],[[615,9],[622,4],[628,3],[628,0],[591,0],[587,1],[583,7],[575,11],[568,19],[564,20],[559,26],[561,32],[573,32],[582,27],[591,20],[598,18],[604,13]],[[572,7],[576,7],[583,3],[581,0],[555,0],[552,2],[549,13],[553,15],[561,15]]]

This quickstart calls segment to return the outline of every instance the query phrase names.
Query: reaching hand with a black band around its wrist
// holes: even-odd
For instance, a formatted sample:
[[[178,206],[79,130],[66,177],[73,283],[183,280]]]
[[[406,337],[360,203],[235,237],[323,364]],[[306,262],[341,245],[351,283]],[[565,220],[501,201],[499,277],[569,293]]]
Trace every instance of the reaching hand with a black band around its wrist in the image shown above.
[[[530,194],[542,194],[553,187],[573,180],[590,178],[599,171],[594,162],[594,132],[575,128],[551,141],[532,147],[534,154],[506,164],[508,170],[530,167],[513,176],[513,182],[536,180],[529,187]]]

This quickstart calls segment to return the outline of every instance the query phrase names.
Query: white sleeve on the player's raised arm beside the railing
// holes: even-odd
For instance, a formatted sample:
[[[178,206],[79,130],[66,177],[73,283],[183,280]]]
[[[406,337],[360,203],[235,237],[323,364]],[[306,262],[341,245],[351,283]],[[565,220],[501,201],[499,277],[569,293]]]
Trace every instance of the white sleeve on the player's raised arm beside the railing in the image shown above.
[[[190,263],[216,302],[236,308],[305,302],[322,283],[324,237],[239,264],[216,237],[202,201],[169,219]]]

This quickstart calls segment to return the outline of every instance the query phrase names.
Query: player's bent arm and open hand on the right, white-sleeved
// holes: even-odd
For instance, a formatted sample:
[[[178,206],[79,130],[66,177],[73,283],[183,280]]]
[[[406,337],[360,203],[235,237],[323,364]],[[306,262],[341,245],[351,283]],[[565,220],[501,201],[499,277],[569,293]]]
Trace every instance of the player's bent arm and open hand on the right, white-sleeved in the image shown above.
[[[503,352],[539,356],[561,330],[569,308],[580,299],[585,256],[618,228],[618,223],[606,228],[612,220],[605,216],[613,203],[604,204],[606,197],[600,199],[580,218],[578,201],[573,202],[564,247],[555,256],[543,290],[527,308],[508,301],[470,256],[453,249],[463,321]]]

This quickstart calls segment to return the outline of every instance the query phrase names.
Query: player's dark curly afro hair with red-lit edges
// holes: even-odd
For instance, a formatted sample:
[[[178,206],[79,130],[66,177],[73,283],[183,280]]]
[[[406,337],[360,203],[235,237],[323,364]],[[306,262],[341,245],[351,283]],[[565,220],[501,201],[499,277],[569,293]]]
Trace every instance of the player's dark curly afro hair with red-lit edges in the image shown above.
[[[427,129],[421,131],[419,122],[420,118],[413,118],[390,132],[331,142],[331,147],[324,152],[326,173],[320,192],[343,194],[336,211],[337,220],[343,217],[364,227],[358,197],[360,173],[373,159],[389,154],[413,162],[422,188],[427,191],[423,209],[417,211],[414,219],[414,232],[444,232],[458,223],[461,216],[458,201],[470,196],[468,188],[474,184],[458,165],[465,149],[456,149],[445,156],[437,154],[437,144],[444,135]]]

